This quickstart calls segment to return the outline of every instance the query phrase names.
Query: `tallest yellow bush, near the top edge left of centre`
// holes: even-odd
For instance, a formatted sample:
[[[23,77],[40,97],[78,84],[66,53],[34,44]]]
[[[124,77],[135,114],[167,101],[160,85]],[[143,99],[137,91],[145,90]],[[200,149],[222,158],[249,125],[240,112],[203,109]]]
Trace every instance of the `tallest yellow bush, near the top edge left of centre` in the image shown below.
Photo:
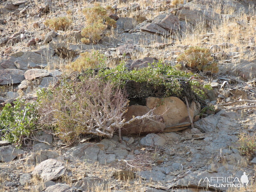
[[[108,15],[115,12],[115,9],[107,6],[106,8],[95,3],[92,8],[85,8],[83,10],[86,18],[86,27],[82,29],[81,39],[82,43],[98,43],[101,40],[101,35],[108,27],[116,27],[116,21],[111,19]]]

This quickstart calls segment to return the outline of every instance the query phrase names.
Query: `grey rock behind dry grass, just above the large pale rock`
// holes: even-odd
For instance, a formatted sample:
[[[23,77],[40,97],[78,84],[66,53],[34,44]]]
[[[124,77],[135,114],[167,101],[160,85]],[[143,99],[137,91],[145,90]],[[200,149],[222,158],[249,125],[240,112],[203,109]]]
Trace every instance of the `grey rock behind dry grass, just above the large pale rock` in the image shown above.
[[[58,153],[55,151],[49,151],[49,150],[40,150],[36,152],[35,154],[32,154],[28,156],[27,163],[28,164],[39,164],[47,159],[55,159],[59,156]]]

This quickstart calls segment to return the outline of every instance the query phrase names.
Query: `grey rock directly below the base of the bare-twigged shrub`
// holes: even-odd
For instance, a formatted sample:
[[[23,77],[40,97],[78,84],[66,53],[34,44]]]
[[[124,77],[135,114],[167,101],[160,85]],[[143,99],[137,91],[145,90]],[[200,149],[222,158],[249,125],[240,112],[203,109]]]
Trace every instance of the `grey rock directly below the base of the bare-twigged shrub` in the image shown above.
[[[70,159],[92,162],[98,159],[99,152],[100,148],[97,145],[92,143],[83,143],[69,149],[65,153],[65,156],[68,156]]]

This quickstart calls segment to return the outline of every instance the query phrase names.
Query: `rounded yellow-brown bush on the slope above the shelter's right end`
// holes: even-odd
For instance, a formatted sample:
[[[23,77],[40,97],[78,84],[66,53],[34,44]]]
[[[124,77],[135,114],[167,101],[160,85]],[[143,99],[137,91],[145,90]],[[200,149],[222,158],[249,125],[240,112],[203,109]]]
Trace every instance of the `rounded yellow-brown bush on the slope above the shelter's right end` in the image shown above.
[[[184,62],[188,68],[192,68],[205,73],[217,73],[219,68],[213,61],[210,49],[200,47],[189,47],[180,54],[177,61]]]

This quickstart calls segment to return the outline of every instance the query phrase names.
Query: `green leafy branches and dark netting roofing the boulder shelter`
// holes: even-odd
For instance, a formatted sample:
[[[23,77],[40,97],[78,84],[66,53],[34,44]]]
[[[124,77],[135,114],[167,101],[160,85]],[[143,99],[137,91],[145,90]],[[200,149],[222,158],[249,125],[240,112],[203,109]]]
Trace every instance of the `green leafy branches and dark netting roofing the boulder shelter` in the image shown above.
[[[89,69],[81,76],[94,73],[93,69]],[[198,96],[204,97],[204,92],[199,89],[200,83],[194,79],[195,74],[176,70],[162,62],[133,70],[127,69],[122,63],[116,68],[99,70],[98,76],[121,84],[129,98],[176,96],[183,100],[187,96],[192,101],[200,100]]]

